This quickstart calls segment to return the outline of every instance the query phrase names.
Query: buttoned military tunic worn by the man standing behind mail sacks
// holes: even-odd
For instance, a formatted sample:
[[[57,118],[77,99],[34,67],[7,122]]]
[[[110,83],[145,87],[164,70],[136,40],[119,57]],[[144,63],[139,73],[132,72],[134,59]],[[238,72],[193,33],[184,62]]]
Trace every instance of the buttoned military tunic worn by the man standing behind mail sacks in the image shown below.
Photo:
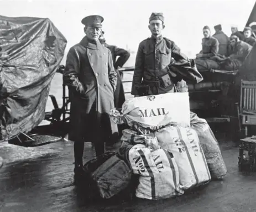
[[[142,84],[142,80],[157,81],[163,75],[168,74],[171,58],[176,60],[189,59],[180,52],[180,48],[171,40],[165,37],[149,37],[139,44],[132,83],[132,95],[138,95],[136,85]],[[164,88],[160,85],[158,94],[167,93],[173,86]],[[149,95],[152,95],[149,90]]]

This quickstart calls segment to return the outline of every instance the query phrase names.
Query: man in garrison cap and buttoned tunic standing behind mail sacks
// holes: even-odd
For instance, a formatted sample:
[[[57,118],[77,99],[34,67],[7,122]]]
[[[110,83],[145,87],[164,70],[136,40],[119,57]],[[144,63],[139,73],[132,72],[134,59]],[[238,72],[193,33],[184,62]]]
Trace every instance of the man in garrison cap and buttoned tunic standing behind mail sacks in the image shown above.
[[[171,58],[190,63],[173,41],[162,36],[165,28],[163,13],[152,13],[148,28],[151,37],[140,42],[135,61],[131,93],[135,97],[174,92],[168,67]],[[185,81],[182,80],[182,83]]]

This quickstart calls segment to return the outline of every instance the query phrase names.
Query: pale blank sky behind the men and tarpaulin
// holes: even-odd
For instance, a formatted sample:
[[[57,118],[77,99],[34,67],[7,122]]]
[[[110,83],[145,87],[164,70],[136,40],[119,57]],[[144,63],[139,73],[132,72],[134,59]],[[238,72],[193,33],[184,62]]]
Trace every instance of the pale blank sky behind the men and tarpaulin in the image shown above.
[[[230,36],[231,25],[243,30],[255,0],[201,1],[65,1],[65,0],[0,0],[0,14],[8,17],[49,18],[67,39],[66,51],[84,36],[81,19],[99,14],[108,44],[137,51],[139,42],[150,36],[148,20],[151,12],[163,12],[164,36],[176,42],[189,57],[201,49],[204,25],[222,24]],[[66,57],[66,56],[65,56]],[[65,61],[65,58],[64,58]]]

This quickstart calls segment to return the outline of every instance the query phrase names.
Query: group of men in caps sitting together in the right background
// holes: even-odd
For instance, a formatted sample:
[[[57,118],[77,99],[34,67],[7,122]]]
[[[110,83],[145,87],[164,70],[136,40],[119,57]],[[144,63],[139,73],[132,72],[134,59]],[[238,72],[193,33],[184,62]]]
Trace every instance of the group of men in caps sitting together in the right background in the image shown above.
[[[224,70],[235,70],[242,66],[245,57],[256,42],[255,34],[249,26],[244,31],[238,31],[232,26],[232,34],[228,37],[222,31],[222,26],[214,26],[215,34],[211,36],[209,26],[203,27],[202,50],[197,59],[212,59]]]

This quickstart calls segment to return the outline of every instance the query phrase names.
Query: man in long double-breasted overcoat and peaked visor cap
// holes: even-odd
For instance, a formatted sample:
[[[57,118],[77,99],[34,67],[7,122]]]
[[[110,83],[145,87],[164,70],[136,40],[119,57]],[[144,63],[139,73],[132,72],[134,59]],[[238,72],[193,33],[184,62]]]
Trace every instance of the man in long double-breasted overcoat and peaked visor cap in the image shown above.
[[[98,156],[105,151],[104,143],[118,134],[108,115],[114,108],[117,73],[111,52],[98,40],[102,21],[100,15],[82,19],[86,36],[70,48],[63,73],[71,93],[69,139],[75,142],[75,176],[83,173],[84,142],[92,142]]]

